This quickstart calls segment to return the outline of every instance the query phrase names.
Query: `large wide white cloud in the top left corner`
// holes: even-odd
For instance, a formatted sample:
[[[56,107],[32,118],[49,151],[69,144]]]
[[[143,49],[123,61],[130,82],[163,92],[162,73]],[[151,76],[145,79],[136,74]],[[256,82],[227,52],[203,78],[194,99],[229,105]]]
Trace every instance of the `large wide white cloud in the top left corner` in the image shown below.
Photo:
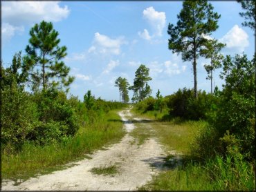
[[[2,19],[13,26],[33,24],[42,20],[61,21],[70,10],[60,7],[59,1],[3,1]]]

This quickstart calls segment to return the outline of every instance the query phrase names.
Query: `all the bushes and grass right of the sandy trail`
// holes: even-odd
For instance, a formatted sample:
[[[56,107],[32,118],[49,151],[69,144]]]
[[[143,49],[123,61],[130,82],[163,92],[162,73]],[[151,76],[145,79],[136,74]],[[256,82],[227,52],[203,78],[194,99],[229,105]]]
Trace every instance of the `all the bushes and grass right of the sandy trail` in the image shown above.
[[[254,64],[246,55],[228,55],[221,65],[223,90],[199,91],[195,99],[194,90],[183,88],[163,99],[167,108],[154,130],[165,146],[183,154],[183,164],[141,190],[255,190]],[[139,102],[136,110],[153,118],[156,101]]]

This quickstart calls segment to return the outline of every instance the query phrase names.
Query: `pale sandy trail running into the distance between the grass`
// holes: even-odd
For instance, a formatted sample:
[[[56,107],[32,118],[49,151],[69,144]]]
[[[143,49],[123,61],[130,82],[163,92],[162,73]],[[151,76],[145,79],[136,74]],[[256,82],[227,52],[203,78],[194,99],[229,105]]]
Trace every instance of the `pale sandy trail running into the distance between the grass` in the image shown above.
[[[130,109],[121,111],[119,115],[125,122],[127,132],[136,128],[128,121],[132,117]],[[3,181],[2,190],[136,190],[138,186],[151,180],[152,175],[158,173],[157,167],[163,165],[164,154],[155,138],[149,138],[144,144],[137,145],[134,137],[127,133],[119,143],[109,146],[107,150],[93,153],[90,160],[80,160],[71,168],[30,178],[18,186],[14,186],[12,181]],[[113,164],[119,167],[119,173],[116,175],[95,175],[90,171],[94,167]]]

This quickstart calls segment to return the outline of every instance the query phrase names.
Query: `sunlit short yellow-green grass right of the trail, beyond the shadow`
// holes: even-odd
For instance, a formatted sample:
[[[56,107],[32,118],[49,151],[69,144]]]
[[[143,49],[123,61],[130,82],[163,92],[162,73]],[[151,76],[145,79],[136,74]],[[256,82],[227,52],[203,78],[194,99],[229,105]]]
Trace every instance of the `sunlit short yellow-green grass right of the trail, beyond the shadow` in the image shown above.
[[[194,142],[199,133],[207,126],[205,121],[183,121],[179,118],[174,118],[170,122],[162,122],[160,117],[166,115],[166,113],[160,113],[158,120],[155,120],[154,111],[148,111],[147,113],[141,113],[132,109],[136,116],[141,118],[152,119],[152,122],[146,124],[147,127],[151,127],[154,130],[154,135],[159,138],[161,144],[163,144],[167,151],[177,151],[183,155],[190,153],[190,146]],[[134,130],[143,134],[149,134],[149,131],[141,129]],[[152,132],[151,132],[152,134]]]

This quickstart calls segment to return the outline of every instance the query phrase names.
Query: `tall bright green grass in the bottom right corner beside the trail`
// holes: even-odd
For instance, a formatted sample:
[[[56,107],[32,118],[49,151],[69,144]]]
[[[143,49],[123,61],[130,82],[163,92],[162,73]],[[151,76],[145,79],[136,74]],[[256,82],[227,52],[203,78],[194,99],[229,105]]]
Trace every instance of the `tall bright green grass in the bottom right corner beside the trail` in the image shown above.
[[[253,166],[217,156],[206,164],[188,162],[153,177],[141,191],[255,191]]]

